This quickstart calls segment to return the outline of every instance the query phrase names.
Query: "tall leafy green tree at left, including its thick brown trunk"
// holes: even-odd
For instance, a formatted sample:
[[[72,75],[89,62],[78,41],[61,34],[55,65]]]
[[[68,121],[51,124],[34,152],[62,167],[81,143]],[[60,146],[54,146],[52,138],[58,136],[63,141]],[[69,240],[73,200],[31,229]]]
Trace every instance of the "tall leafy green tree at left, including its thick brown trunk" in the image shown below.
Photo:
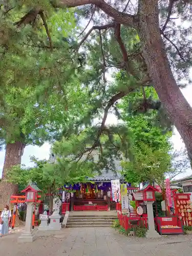
[[[25,7],[21,10],[17,4],[15,10],[7,12],[4,6],[0,11],[0,31],[7,36],[0,42],[0,134],[1,145],[6,145],[1,204],[9,202],[17,191],[14,184],[6,183],[6,174],[11,166],[21,163],[25,146],[57,139],[73,118],[79,118],[78,108],[84,102],[77,79],[80,54],[74,53],[73,40],[66,40],[74,29],[73,12],[66,13],[62,21],[62,13],[48,8],[51,16],[47,22],[42,14],[34,29],[26,26],[20,30],[14,23]],[[47,23],[52,25],[53,49],[47,38]]]

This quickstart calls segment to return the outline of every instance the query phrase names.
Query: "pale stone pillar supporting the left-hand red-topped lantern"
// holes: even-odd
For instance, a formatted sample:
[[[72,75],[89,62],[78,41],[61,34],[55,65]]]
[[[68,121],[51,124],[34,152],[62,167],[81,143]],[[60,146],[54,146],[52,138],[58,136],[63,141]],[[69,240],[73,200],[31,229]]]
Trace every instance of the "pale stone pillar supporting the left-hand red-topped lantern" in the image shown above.
[[[18,242],[33,242],[35,240],[35,236],[32,233],[33,207],[33,202],[27,202],[25,231],[18,237]]]

